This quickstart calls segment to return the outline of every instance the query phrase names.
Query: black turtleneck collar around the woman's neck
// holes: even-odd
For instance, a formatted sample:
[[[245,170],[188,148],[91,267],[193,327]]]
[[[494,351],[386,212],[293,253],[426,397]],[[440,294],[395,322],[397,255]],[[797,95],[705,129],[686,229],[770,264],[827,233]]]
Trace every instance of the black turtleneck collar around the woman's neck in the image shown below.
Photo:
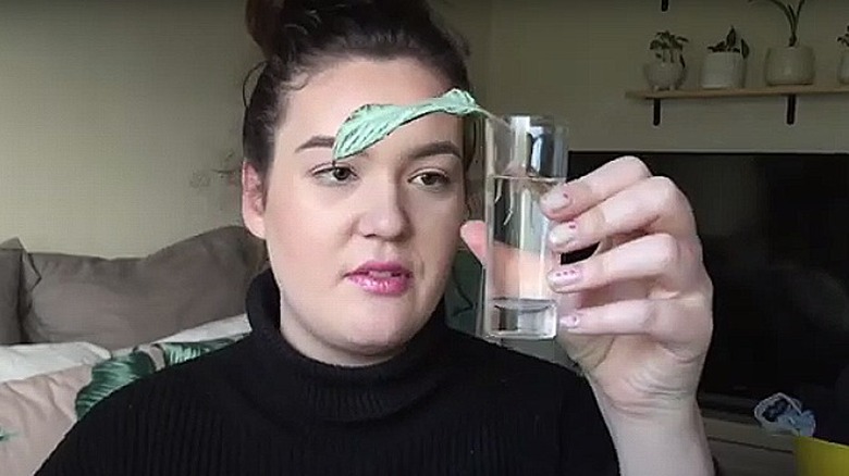
[[[247,298],[255,378],[267,410],[281,416],[356,422],[389,416],[427,398],[447,375],[447,326],[440,302],[407,347],[386,362],[345,367],[312,360],[280,333],[280,289],[271,270]]]

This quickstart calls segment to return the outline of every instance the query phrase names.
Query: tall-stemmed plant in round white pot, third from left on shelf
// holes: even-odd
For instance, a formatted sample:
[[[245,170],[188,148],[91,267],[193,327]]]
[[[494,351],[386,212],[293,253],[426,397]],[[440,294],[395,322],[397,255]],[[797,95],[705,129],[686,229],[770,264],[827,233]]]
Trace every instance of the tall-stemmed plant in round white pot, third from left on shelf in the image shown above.
[[[749,0],[754,2],[760,0]],[[799,0],[796,7],[779,0],[765,0],[778,8],[787,18],[790,36],[786,47],[772,47],[766,51],[764,76],[770,86],[810,85],[816,73],[813,49],[799,42],[799,16],[805,0]]]

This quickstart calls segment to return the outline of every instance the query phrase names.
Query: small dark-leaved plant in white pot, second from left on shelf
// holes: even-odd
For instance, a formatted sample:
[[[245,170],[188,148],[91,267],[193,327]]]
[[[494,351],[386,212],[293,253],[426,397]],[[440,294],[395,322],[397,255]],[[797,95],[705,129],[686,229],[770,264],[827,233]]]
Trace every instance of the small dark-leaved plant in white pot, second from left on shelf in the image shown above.
[[[749,43],[731,25],[725,39],[709,46],[704,57],[700,85],[703,89],[739,89],[746,83],[746,60]]]

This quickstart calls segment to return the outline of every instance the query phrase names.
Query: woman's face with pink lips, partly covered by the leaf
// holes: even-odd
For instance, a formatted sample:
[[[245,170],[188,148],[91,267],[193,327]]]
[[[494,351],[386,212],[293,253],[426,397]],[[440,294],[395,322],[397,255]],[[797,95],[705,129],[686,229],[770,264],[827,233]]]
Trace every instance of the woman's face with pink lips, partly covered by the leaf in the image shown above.
[[[335,166],[331,147],[357,108],[448,88],[415,60],[341,62],[288,92],[264,203],[245,167],[245,222],[267,240],[281,329],[302,353],[380,362],[435,309],[465,213],[460,120],[427,115]]]

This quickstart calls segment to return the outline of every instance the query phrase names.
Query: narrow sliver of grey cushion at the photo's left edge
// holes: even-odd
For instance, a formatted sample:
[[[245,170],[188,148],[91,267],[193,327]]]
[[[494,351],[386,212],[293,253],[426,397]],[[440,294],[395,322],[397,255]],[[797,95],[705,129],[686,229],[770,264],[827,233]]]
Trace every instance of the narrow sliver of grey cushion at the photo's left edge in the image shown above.
[[[17,239],[0,243],[0,345],[21,342],[21,253],[23,247]]]

